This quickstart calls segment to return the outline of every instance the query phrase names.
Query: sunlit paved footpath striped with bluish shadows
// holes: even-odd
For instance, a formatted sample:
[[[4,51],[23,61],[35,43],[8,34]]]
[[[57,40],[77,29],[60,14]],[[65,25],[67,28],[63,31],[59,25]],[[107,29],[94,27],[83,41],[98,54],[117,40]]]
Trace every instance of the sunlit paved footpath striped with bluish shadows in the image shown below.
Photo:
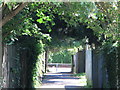
[[[85,85],[80,80],[80,77],[75,77],[69,72],[46,73],[41,88],[45,88],[44,90],[48,90],[46,88],[49,90],[80,90]]]

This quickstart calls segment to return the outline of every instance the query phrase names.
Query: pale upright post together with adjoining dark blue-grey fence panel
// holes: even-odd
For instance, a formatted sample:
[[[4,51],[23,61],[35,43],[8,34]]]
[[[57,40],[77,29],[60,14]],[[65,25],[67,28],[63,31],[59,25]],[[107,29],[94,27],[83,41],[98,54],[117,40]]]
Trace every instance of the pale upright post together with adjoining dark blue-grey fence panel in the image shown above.
[[[103,88],[108,86],[108,75],[105,67],[104,54],[100,50],[86,48],[86,78],[88,85],[93,88]]]

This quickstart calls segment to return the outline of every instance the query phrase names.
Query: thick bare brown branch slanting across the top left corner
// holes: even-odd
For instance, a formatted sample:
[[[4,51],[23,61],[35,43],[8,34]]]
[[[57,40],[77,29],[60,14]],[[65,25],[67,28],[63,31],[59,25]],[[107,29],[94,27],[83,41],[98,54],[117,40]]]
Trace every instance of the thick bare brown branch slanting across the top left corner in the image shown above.
[[[4,26],[10,19],[12,19],[16,14],[18,14],[19,11],[21,11],[27,4],[28,4],[28,2],[21,3],[16,9],[14,9],[7,16],[5,16],[0,21],[0,27]]]

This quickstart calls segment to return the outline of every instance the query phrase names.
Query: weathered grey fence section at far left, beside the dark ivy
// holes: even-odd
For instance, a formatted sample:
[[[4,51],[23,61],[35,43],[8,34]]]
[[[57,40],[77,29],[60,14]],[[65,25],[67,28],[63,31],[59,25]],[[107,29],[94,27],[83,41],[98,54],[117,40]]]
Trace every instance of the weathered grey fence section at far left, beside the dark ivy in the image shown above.
[[[4,45],[2,74],[4,88],[17,88],[20,85],[20,63],[17,47]]]

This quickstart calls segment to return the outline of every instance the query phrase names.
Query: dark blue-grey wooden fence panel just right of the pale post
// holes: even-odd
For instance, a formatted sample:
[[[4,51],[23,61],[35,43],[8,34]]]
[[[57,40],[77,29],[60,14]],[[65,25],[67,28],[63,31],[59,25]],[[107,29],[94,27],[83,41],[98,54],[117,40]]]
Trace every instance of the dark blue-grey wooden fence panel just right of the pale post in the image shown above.
[[[107,85],[107,72],[105,68],[105,60],[102,52],[97,50],[92,51],[93,65],[92,65],[92,81],[93,88],[103,88]]]

